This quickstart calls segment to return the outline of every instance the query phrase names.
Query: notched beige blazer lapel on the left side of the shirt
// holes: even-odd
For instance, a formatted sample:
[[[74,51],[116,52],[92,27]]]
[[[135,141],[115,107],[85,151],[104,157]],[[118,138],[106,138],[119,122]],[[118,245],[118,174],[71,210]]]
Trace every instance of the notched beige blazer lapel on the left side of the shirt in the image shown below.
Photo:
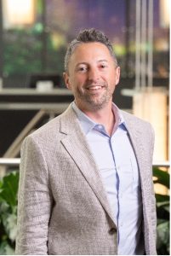
[[[83,173],[83,177],[94,191],[102,207],[105,208],[105,211],[109,214],[111,220],[113,220],[111,207],[100,177],[100,171],[96,166],[93,154],[88,147],[86,137],[71,105],[60,117],[60,132],[66,134],[61,140],[61,143],[66,148],[68,154],[71,155],[79,170]]]

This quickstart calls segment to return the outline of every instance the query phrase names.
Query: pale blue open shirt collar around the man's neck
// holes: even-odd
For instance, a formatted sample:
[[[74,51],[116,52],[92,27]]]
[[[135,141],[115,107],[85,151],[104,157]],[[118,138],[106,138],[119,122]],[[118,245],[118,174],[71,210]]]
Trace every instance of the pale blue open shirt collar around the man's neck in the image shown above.
[[[89,131],[93,130],[95,126],[100,125],[96,122],[94,122],[93,119],[90,119],[88,117],[88,115],[86,115],[85,113],[83,113],[82,110],[80,110],[79,108],[77,108],[77,105],[75,102],[72,102],[72,108],[75,111],[75,113],[77,114],[77,118],[80,121],[83,131],[85,132],[85,134],[87,135]],[[120,126],[123,130],[127,130],[126,125],[125,125],[125,121],[123,119],[123,114],[121,113],[120,109],[117,108],[117,105],[114,104],[112,102],[112,111],[115,115],[115,125],[113,127],[113,132],[117,130],[117,127]]]

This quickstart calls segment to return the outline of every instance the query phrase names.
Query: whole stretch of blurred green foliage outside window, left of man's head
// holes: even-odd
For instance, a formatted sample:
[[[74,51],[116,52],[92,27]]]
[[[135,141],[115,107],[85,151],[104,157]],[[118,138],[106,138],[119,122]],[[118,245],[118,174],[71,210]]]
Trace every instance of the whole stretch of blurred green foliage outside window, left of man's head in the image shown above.
[[[55,49],[53,34],[44,32],[42,22],[27,29],[5,31],[3,44],[5,76],[63,72],[66,44]]]

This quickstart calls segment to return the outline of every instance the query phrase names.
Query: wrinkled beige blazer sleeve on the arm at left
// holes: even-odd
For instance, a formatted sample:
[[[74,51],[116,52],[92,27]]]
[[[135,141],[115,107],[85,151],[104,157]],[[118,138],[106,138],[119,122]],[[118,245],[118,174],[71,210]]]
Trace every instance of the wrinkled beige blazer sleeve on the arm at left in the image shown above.
[[[48,253],[52,195],[48,168],[39,143],[29,136],[21,148],[16,254]]]

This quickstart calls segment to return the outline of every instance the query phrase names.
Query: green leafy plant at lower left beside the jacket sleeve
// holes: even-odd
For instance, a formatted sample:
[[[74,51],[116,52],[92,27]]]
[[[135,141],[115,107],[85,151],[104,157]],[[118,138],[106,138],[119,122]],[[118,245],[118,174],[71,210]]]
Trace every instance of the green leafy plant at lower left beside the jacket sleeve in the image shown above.
[[[19,172],[0,181],[0,255],[14,254]]]

